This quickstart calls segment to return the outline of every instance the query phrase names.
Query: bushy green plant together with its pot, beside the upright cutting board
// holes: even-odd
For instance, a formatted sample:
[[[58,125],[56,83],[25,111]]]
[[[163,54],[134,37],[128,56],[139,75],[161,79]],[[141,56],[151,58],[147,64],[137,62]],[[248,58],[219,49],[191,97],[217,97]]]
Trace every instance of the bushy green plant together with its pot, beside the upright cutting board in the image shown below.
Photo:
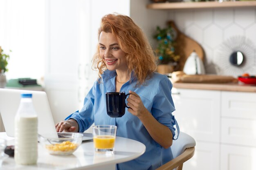
[[[162,74],[173,72],[180,60],[180,55],[175,53],[175,31],[170,25],[164,29],[157,26],[154,38],[158,42],[155,50],[158,60],[157,72]]]

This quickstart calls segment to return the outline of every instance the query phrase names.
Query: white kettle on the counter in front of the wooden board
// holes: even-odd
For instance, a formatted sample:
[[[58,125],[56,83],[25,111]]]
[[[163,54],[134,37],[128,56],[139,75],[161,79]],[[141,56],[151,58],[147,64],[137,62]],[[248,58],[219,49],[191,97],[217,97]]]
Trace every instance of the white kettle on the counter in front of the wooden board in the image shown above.
[[[205,74],[204,64],[195,51],[187,58],[183,72],[188,75]]]

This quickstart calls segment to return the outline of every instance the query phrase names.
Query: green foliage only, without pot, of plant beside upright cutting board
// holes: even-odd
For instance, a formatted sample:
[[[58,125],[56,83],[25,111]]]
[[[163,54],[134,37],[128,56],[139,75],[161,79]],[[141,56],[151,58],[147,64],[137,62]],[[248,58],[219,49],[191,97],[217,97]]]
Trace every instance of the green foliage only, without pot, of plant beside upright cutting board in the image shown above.
[[[171,26],[161,29],[157,26],[154,38],[157,40],[158,64],[177,63],[180,60],[180,55],[175,54],[175,32]]]

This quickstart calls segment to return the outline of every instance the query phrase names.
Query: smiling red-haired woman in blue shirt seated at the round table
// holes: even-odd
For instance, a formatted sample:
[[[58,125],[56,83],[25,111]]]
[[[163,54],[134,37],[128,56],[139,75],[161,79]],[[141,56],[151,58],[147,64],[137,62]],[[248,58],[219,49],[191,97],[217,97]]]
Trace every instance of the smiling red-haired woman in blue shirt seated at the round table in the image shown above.
[[[117,136],[146,146],[141,157],[117,164],[118,170],[154,170],[173,159],[176,124],[168,77],[155,73],[155,56],[142,30],[125,15],[108,14],[101,20],[99,44],[93,59],[99,79],[85,97],[80,112],[56,124],[62,132],[83,132],[93,123],[117,126]],[[123,117],[106,113],[106,92],[131,93]],[[177,124],[176,124],[177,126]],[[177,126],[178,128],[178,126]]]

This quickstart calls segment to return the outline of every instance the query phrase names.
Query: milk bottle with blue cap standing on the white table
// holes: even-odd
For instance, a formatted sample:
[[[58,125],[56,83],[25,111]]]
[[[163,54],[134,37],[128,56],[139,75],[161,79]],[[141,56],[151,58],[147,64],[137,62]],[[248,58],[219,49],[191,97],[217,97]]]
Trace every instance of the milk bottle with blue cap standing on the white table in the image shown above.
[[[37,121],[32,94],[21,94],[15,116],[14,159],[17,164],[31,165],[37,162]]]

